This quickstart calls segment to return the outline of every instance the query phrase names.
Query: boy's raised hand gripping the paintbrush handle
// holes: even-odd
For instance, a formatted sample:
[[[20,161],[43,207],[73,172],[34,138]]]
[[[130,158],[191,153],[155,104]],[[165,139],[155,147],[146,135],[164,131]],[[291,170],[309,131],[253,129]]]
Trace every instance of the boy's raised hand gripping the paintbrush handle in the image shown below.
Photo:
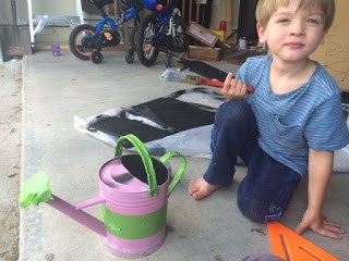
[[[242,100],[244,99],[248,91],[248,87],[241,80],[233,78],[232,73],[228,73],[225,80],[221,94],[226,96],[229,100]]]

